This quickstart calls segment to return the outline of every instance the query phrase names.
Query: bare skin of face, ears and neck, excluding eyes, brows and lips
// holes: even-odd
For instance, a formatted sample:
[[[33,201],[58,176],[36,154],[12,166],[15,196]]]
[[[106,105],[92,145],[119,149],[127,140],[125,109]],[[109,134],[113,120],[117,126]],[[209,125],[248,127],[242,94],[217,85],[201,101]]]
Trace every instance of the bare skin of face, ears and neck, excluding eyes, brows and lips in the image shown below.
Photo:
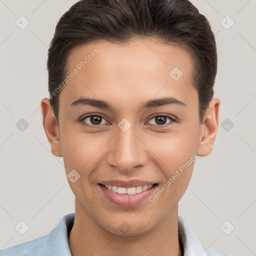
[[[41,100],[51,152],[63,156],[66,174],[72,169],[80,174],[74,183],[68,179],[75,195],[75,220],[68,237],[71,254],[181,255],[178,201],[188,186],[194,161],[154,202],[144,200],[132,207],[109,202],[98,182],[137,178],[158,183],[159,189],[189,157],[212,151],[220,100],[209,102],[200,124],[190,54],[153,39],[125,45],[97,41],[75,47],[68,56],[68,73],[94,48],[99,52],[59,92],[59,126],[49,99]],[[173,67],[183,73],[176,81],[169,75]],[[114,109],[70,106],[80,96],[108,101]],[[139,108],[142,102],[166,96],[186,106]],[[88,114],[103,116],[96,128],[91,127],[90,118],[80,120]],[[157,114],[169,114],[177,121],[166,117],[159,124]],[[131,124],[126,131],[118,126],[123,118]],[[130,226],[125,234],[118,228],[123,221]]]

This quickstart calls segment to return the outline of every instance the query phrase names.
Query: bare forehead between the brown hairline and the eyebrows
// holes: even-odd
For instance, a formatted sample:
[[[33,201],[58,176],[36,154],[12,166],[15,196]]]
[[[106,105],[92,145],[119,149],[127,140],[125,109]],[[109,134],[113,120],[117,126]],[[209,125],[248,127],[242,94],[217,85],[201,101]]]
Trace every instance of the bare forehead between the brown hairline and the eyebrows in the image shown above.
[[[84,94],[100,99],[116,97],[123,103],[156,94],[175,95],[182,101],[189,101],[189,95],[190,101],[197,99],[192,88],[191,55],[178,45],[150,39],[128,44],[90,42],[70,51],[67,75],[74,70],[76,74],[61,93],[69,103]]]

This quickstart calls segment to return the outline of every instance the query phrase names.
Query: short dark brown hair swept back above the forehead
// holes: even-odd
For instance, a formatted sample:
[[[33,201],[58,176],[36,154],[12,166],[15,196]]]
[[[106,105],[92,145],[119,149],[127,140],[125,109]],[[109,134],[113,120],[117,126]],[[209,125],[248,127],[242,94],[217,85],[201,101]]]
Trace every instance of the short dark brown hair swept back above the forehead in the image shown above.
[[[72,5],[59,19],[48,49],[48,90],[57,123],[59,93],[52,92],[65,79],[70,50],[90,41],[128,43],[140,36],[180,45],[191,54],[202,123],[214,93],[217,51],[208,20],[189,0],[80,0]]]

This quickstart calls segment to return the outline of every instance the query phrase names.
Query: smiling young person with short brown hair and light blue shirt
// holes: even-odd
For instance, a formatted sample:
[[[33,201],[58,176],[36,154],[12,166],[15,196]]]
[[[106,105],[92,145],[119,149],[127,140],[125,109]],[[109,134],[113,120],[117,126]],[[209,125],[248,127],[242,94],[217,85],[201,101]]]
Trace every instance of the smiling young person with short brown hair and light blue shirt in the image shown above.
[[[56,25],[47,67],[43,127],[75,213],[1,255],[224,255],[178,216],[219,123],[215,38],[196,7],[78,1]]]

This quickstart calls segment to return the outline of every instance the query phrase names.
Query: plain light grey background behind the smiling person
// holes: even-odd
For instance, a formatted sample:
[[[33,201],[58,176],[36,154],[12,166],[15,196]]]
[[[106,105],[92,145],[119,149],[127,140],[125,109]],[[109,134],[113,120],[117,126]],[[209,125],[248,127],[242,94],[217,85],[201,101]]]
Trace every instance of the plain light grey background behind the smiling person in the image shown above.
[[[50,152],[40,110],[47,94],[47,47],[74,2],[0,0],[0,249],[46,234],[74,212],[62,157]],[[192,3],[216,35],[221,111],[213,151],[197,159],[179,214],[205,246],[256,255],[256,1]],[[21,15],[29,21],[24,29],[15,24]],[[21,118],[28,123],[23,131],[16,126]],[[21,220],[29,226],[24,234],[15,229]]]

